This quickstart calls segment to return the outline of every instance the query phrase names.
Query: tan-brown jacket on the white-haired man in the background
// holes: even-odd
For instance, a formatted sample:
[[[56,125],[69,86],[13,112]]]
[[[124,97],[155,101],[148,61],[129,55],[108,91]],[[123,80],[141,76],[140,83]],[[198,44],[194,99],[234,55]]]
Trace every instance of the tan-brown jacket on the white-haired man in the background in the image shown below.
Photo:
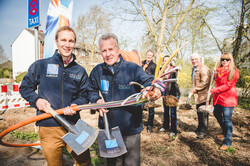
[[[193,71],[192,71],[193,74]],[[211,72],[210,69],[200,63],[198,65],[194,77],[193,77],[193,93],[195,97],[195,103],[201,104],[203,102],[206,102],[207,95],[208,95],[208,89],[210,84],[210,77]]]

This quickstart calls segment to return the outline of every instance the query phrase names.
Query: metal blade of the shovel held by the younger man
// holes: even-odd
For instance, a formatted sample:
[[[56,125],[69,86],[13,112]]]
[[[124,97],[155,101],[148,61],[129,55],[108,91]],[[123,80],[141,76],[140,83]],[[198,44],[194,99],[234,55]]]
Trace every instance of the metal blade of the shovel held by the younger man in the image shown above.
[[[86,151],[96,140],[99,130],[93,128],[82,120],[78,120],[75,126],[78,133],[67,133],[62,137],[64,142],[77,154]]]

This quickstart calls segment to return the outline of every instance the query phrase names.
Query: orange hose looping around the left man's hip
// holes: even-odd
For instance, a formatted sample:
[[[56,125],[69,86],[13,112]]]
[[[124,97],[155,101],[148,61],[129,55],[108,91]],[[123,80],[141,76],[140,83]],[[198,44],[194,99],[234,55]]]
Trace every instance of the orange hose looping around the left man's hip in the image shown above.
[[[74,111],[79,111],[79,108],[77,106],[72,106],[71,107]],[[58,110],[55,110],[58,114],[63,114],[63,110],[64,108],[62,109],[58,109]],[[40,114],[40,115],[37,115],[35,117],[32,117],[30,119],[26,119],[22,122],[19,122],[13,126],[10,126],[9,128],[7,128],[6,130],[4,130],[3,132],[0,133],[0,144],[1,145],[4,145],[4,146],[10,146],[10,147],[26,147],[26,146],[37,146],[37,145],[40,145],[40,143],[30,143],[30,144],[12,144],[12,143],[8,143],[8,142],[4,142],[2,141],[3,137],[5,135],[7,135],[9,132],[11,131],[14,131],[22,126],[25,126],[27,124],[30,124],[32,122],[36,122],[36,121],[39,121],[39,120],[42,120],[42,119],[46,119],[46,118],[49,118],[49,117],[52,117],[51,114],[49,113],[44,113],[44,114]]]

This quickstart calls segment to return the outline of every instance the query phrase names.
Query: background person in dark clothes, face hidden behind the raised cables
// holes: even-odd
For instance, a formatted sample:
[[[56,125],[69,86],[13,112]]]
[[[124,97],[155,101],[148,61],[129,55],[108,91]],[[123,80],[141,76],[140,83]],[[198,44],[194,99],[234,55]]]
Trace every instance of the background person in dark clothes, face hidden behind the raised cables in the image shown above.
[[[169,56],[166,55],[163,58],[163,63],[165,64],[168,60]],[[163,74],[169,71],[170,69],[175,68],[175,66],[172,63],[169,63],[166,66],[165,71],[163,71]],[[174,72],[167,74],[163,77],[164,80],[167,79],[174,79],[177,78],[177,70]],[[164,114],[163,114],[163,126],[160,129],[160,132],[164,132],[169,129],[169,119],[171,116],[171,127],[169,130],[170,136],[175,136],[177,134],[177,114],[176,114],[176,108],[178,105],[178,100],[180,98],[180,90],[177,82],[166,82],[165,83],[165,94],[163,97],[163,108],[164,108]],[[169,116],[169,109],[170,109],[170,116]]]

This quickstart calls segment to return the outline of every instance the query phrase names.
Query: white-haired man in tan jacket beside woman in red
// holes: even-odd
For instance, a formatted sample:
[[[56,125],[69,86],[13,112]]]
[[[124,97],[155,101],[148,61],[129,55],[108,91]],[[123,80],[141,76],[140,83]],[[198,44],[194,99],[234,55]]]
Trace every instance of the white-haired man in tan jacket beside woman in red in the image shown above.
[[[190,90],[190,95],[194,94],[196,110],[198,115],[198,128],[195,130],[197,138],[203,139],[206,137],[208,128],[208,116],[209,113],[199,111],[199,107],[206,105],[206,99],[208,96],[208,89],[210,83],[210,69],[201,63],[199,54],[195,53],[191,55],[191,62],[193,65],[192,70],[192,84],[193,88]]]

